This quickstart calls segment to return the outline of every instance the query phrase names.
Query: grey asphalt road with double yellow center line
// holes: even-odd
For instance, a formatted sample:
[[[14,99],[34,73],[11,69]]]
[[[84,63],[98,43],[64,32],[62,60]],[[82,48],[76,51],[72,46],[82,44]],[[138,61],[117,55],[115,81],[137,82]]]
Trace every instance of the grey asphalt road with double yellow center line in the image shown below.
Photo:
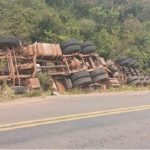
[[[150,149],[150,92],[0,104],[0,148]]]

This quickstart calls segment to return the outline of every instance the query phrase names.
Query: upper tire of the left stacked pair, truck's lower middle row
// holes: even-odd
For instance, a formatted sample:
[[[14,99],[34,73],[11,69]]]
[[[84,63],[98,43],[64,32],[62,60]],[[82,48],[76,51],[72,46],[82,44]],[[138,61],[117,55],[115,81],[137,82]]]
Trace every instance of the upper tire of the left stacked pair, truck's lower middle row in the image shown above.
[[[71,76],[71,81],[74,82],[75,80],[83,77],[90,77],[90,73],[88,71],[81,71],[81,72],[74,73]]]

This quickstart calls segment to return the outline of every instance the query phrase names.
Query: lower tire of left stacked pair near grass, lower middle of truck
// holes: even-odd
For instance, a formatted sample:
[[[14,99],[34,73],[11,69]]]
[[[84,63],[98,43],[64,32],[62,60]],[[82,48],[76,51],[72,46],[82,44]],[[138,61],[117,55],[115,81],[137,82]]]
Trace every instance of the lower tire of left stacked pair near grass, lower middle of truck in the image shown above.
[[[91,77],[83,77],[83,78],[79,78],[76,81],[74,81],[73,87],[79,87],[79,86],[87,85],[90,83],[92,83]]]

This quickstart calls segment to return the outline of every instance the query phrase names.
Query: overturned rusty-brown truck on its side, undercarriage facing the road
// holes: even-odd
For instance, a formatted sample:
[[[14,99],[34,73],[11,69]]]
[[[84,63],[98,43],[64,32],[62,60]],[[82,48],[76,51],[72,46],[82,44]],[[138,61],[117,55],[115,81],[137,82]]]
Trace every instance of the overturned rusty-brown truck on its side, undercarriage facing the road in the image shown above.
[[[16,37],[1,37],[0,84],[5,80],[15,91],[38,89],[40,82],[37,76],[43,73],[52,77],[54,88],[59,92],[76,87],[121,86],[137,76],[131,76],[127,67],[120,64],[122,59],[106,62],[96,53],[96,46],[90,41],[35,42],[23,46]],[[132,64],[134,62],[128,65],[130,70]],[[147,81],[144,85],[148,85],[149,76],[143,78]]]

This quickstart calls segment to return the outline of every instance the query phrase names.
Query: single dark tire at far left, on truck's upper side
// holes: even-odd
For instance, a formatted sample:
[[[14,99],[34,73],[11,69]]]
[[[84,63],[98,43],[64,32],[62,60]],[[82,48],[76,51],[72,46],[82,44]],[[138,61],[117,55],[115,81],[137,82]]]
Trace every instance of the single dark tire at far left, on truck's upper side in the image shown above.
[[[0,48],[16,48],[21,45],[21,41],[13,36],[0,37]]]

